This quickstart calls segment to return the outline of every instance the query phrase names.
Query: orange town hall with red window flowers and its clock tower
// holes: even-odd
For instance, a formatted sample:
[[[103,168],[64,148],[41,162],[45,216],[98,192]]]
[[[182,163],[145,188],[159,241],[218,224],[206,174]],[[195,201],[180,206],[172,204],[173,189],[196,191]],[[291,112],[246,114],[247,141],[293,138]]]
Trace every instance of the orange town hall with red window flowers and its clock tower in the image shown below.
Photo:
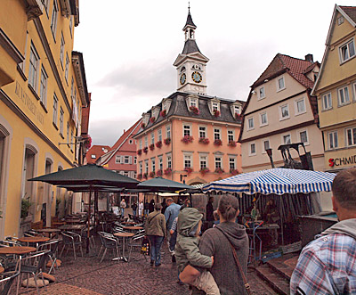
[[[137,140],[137,177],[162,176],[204,184],[241,171],[237,139],[244,102],[207,95],[206,63],[196,43],[190,12],[185,44],[174,61],[177,92],[142,114]]]

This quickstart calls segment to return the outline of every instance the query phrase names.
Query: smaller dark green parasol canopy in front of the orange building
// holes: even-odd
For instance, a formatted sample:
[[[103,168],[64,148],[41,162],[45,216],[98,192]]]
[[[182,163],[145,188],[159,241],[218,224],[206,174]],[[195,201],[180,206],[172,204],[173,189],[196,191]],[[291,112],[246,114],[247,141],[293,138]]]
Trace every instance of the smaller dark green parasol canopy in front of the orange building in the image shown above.
[[[194,187],[188,184],[181,184],[173,180],[162,177],[155,177],[137,184],[137,188],[148,189],[150,193],[170,193],[182,190],[191,190]]]

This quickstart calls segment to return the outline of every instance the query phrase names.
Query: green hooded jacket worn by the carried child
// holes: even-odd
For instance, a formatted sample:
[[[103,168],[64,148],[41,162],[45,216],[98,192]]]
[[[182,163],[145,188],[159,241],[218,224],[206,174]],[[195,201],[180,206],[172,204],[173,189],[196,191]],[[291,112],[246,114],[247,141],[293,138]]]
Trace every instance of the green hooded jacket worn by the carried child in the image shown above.
[[[200,254],[199,239],[193,231],[203,217],[195,208],[184,208],[178,214],[177,242],[175,244],[175,258],[180,272],[185,266],[199,266],[210,268],[213,260],[209,256]],[[192,232],[193,231],[193,232]]]

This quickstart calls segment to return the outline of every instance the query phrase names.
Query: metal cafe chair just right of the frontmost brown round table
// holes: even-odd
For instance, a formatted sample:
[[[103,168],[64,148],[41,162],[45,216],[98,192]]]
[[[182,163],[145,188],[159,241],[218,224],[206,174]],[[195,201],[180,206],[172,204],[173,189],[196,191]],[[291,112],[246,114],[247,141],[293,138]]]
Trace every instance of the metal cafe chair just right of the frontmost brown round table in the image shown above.
[[[36,291],[38,295],[39,295],[39,288],[38,288],[37,279],[39,277],[41,277],[42,279],[42,282],[44,284],[44,290],[45,290],[44,275],[42,272],[44,270],[44,263],[47,258],[48,252],[49,250],[35,252],[32,255],[22,258],[20,263],[21,276],[22,274],[27,274],[29,278],[29,275],[33,275],[35,285],[36,285]],[[28,288],[28,281],[29,280],[27,279],[27,288]]]

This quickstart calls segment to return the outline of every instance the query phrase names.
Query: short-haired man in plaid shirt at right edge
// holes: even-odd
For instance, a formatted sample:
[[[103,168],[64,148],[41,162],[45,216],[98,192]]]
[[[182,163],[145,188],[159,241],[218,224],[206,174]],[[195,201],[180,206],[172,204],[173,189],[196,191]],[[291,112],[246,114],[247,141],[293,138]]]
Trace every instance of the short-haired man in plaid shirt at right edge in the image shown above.
[[[290,280],[293,294],[356,294],[356,168],[337,173],[332,185],[338,223],[306,245]]]

